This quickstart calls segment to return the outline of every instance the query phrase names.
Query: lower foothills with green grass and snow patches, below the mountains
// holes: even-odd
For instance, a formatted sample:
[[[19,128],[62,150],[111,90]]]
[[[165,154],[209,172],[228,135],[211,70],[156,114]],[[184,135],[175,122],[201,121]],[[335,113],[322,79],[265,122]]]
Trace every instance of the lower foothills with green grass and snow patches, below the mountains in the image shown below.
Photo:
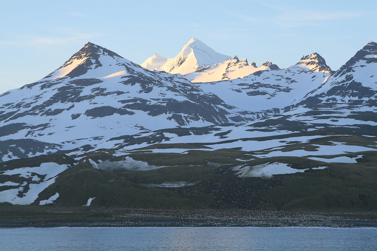
[[[74,158],[0,163],[0,202],[373,211],[377,134],[371,123],[363,105],[321,104],[249,124],[115,137],[112,149],[70,153]]]

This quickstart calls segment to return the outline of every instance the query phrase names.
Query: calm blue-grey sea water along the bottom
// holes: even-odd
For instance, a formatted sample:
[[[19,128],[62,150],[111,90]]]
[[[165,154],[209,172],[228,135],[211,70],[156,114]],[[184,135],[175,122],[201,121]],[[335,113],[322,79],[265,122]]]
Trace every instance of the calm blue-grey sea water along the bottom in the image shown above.
[[[377,228],[0,228],[4,251],[377,250]]]

